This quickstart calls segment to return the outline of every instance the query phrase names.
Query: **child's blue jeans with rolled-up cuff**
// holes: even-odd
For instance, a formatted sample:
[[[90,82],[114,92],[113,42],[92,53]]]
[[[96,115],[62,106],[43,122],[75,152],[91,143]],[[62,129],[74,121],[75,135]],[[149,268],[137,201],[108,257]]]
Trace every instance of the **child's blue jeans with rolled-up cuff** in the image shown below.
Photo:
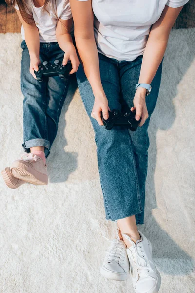
[[[30,147],[44,146],[46,157],[56,137],[61,108],[68,91],[69,81],[49,77],[39,83],[29,72],[30,56],[26,42],[21,43],[21,90],[24,95],[23,148],[30,152]],[[63,60],[64,52],[57,42],[40,43],[41,62],[55,59]]]

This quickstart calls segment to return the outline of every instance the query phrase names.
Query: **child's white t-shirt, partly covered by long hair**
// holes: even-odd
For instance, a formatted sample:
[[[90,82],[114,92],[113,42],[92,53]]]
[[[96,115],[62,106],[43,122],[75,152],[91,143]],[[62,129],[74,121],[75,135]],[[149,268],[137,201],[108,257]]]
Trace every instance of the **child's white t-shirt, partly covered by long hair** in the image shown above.
[[[26,0],[29,11],[33,15],[35,24],[39,29],[40,42],[57,42],[56,40],[56,25],[57,18],[55,10],[53,11],[51,3],[46,7],[35,7],[33,0]],[[69,0],[56,0],[57,16],[62,20],[72,18]],[[18,6],[15,6],[19,10]],[[49,13],[48,13],[49,12]],[[22,38],[25,39],[24,28],[21,28]]]

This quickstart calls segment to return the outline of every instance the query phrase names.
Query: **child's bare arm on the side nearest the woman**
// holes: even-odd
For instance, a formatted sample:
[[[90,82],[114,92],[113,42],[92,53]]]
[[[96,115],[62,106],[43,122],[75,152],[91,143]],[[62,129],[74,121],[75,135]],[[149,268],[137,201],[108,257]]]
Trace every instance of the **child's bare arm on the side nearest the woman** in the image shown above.
[[[72,37],[70,35],[72,23],[73,23],[72,18],[69,20],[59,19],[57,27],[56,27],[57,42],[60,48],[65,52],[63,65],[66,65],[68,60],[70,60],[72,63],[73,69],[71,70],[70,74],[76,72],[80,64],[75,46],[73,45]]]

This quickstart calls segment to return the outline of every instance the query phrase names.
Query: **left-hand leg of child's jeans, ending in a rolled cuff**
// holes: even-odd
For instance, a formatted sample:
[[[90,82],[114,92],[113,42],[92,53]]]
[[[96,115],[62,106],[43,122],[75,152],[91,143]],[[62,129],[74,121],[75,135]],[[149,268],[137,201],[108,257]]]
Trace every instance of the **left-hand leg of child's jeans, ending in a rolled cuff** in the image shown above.
[[[21,45],[21,90],[24,95],[23,101],[23,127],[24,143],[26,152],[30,152],[31,147],[42,146],[49,148],[50,143],[47,135],[46,119],[46,90],[47,83],[39,83],[29,72],[30,56],[25,41]],[[44,55],[41,52],[40,59],[43,61]]]

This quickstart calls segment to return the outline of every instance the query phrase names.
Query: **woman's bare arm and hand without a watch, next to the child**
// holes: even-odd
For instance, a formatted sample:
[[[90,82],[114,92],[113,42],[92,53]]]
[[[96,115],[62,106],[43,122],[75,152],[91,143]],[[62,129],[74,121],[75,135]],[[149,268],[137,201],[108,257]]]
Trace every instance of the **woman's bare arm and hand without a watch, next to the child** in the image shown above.
[[[99,73],[99,58],[94,39],[94,14],[92,0],[70,0],[75,25],[75,41],[85,75],[91,84],[95,97],[92,117],[102,125],[101,111],[108,118],[108,101],[106,99]]]

